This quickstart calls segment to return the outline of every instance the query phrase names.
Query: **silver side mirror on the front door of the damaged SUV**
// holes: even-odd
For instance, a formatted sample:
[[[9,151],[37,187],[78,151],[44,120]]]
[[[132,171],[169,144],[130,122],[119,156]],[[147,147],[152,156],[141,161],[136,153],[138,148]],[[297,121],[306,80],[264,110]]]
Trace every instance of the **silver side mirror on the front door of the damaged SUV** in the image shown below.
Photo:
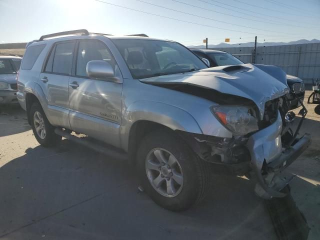
[[[92,60],[86,63],[85,68],[88,77],[105,79],[114,76],[112,66],[103,60]]]

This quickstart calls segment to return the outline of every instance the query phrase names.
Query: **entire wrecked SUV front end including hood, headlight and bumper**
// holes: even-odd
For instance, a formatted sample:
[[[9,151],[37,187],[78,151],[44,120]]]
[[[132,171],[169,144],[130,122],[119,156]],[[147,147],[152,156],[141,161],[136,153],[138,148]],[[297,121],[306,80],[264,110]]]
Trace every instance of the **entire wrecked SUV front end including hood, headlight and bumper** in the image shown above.
[[[255,175],[258,196],[284,196],[280,190],[292,176],[283,170],[309,146],[311,138],[309,134],[298,137],[307,112],[299,98],[301,119],[292,130],[295,115],[289,112],[286,74],[280,68],[257,64],[221,66],[143,82],[214,102],[209,108],[221,123],[220,128],[210,127],[209,120],[201,119],[203,134],[179,131],[182,137],[200,158],[215,164],[216,172],[248,178]],[[217,136],[222,127],[231,137]]]

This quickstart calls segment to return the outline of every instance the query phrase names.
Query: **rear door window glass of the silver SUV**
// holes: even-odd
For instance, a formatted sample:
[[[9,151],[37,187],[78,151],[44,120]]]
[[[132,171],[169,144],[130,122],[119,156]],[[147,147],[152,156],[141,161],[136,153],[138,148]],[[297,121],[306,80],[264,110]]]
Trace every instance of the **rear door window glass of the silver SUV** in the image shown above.
[[[71,73],[73,47],[74,42],[62,42],[55,45],[52,72],[62,74]],[[53,51],[51,55],[52,53]]]

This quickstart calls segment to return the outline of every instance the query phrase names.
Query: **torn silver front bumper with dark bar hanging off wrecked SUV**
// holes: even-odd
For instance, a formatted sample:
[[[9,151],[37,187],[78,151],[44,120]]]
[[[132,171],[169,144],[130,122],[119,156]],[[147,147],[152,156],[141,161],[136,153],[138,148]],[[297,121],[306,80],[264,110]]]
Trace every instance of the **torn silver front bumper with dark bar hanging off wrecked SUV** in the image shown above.
[[[279,113],[273,124],[248,139],[247,146],[251,149],[251,163],[257,178],[254,191],[262,198],[285,196],[285,193],[280,190],[292,180],[294,175],[283,170],[311,144],[311,136],[308,133],[297,138],[307,112],[301,100],[299,102],[302,105],[300,110],[302,117],[292,139],[286,143],[286,149],[283,150],[281,143],[282,120]]]

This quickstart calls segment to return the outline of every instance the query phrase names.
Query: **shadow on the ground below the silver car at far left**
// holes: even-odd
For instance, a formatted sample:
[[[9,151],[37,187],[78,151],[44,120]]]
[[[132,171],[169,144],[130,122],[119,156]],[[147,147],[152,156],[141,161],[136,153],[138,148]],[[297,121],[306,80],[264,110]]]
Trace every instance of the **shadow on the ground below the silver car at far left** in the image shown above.
[[[0,137],[30,130],[26,113],[18,104],[0,105]]]

